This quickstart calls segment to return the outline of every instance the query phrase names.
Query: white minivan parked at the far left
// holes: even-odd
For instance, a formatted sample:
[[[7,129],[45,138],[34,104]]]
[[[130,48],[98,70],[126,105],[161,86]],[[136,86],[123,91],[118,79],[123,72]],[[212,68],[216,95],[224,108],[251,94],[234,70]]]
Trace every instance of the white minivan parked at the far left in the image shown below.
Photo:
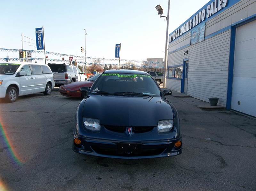
[[[54,85],[52,71],[47,65],[0,63],[0,98],[8,102],[32,93],[50,95]]]

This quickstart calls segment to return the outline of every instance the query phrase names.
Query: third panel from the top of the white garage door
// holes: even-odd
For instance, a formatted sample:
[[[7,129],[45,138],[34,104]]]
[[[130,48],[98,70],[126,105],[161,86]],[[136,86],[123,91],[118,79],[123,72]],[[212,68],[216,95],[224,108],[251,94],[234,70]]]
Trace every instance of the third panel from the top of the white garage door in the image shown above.
[[[255,58],[235,60],[234,62],[234,77],[256,77]]]

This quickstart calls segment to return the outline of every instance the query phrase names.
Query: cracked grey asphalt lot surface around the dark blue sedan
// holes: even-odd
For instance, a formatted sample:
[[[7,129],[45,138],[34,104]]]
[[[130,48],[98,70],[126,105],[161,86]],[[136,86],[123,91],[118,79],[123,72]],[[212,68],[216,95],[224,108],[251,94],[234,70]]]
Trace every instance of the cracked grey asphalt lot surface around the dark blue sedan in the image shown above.
[[[0,185],[6,190],[256,190],[256,120],[167,96],[183,153],[122,160],[72,151],[76,107],[55,89],[0,103]],[[0,188],[1,190],[1,188]]]

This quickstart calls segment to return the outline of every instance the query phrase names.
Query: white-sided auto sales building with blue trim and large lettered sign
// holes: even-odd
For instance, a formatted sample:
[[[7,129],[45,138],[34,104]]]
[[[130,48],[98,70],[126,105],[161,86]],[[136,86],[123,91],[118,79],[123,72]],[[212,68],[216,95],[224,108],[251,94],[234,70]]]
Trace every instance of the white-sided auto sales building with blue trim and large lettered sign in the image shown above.
[[[256,116],[256,0],[211,0],[173,31],[166,87]]]

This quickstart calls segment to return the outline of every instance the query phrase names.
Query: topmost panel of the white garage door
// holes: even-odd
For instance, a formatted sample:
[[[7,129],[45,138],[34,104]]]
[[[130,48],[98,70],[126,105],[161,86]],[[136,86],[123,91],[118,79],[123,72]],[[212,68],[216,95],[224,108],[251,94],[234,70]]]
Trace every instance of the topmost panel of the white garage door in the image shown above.
[[[238,27],[236,29],[236,43],[240,43],[243,41],[251,40],[255,38],[256,31],[256,20],[249,22],[246,25]]]

